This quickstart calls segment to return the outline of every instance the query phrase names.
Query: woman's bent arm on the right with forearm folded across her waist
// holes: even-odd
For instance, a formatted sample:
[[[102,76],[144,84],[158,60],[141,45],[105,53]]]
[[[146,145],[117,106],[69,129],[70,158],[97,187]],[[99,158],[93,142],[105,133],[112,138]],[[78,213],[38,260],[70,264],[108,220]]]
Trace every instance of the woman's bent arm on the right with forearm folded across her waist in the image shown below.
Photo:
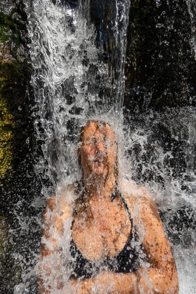
[[[101,272],[91,279],[78,281],[76,294],[178,294],[175,261],[158,209],[147,197],[141,199],[139,206],[145,227],[143,245],[151,266],[134,273]]]

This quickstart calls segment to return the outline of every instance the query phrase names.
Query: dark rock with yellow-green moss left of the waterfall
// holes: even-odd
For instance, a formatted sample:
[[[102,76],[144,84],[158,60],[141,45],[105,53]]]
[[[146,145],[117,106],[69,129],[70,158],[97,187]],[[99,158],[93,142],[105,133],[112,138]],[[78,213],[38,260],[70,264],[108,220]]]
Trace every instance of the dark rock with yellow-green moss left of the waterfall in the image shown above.
[[[31,64],[23,0],[0,3],[0,183],[17,168],[29,130]],[[29,91],[30,92],[30,91]],[[20,154],[20,155],[19,155]]]

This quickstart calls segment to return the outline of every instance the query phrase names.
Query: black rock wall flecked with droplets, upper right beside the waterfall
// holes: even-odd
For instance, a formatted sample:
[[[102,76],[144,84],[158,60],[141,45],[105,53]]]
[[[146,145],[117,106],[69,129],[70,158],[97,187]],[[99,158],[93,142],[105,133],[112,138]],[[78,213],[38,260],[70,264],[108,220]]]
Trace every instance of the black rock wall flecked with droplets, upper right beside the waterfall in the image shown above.
[[[186,0],[132,0],[124,105],[131,111],[195,105],[196,60]]]

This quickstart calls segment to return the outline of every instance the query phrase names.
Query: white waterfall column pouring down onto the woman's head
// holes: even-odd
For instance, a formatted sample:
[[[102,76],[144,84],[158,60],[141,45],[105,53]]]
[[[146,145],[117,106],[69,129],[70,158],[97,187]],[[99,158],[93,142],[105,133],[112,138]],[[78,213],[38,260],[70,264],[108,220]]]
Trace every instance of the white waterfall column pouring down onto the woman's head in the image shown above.
[[[37,169],[47,170],[54,186],[77,178],[77,130],[89,118],[123,122],[124,55],[129,1],[113,1],[110,62],[100,58],[90,2],[73,9],[50,0],[26,1],[34,68],[32,85],[38,111],[35,127],[43,141]],[[105,53],[107,54],[107,53]],[[118,65],[118,66],[117,66]]]

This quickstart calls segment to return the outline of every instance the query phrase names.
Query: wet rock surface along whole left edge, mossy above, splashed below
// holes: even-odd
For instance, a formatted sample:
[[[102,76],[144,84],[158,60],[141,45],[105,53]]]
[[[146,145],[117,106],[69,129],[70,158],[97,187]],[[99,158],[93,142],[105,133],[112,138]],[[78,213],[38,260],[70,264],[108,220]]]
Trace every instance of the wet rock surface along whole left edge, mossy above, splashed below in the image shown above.
[[[22,0],[0,1],[0,293],[11,294],[34,259],[40,227],[34,203],[40,181],[34,172],[36,143],[31,61]],[[27,217],[28,216],[28,217]],[[35,226],[25,225],[26,218]],[[33,221],[34,220],[34,221]],[[36,234],[36,236],[34,235]],[[38,235],[37,235],[38,234]]]

